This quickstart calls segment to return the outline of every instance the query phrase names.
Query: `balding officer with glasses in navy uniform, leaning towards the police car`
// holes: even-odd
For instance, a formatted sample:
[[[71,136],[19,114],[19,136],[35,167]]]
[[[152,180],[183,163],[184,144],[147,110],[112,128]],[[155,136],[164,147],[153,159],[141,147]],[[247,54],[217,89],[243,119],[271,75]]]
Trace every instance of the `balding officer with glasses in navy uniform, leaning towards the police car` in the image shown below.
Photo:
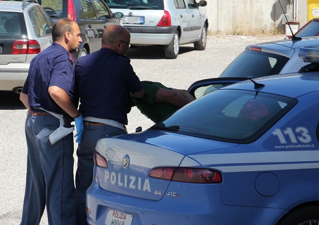
[[[126,134],[127,105],[130,94],[141,98],[143,86],[131,60],[125,56],[130,45],[129,31],[119,25],[108,26],[99,51],[79,58],[75,79],[80,97],[84,132],[77,149],[75,177],[77,225],[86,225],[85,192],[93,179],[93,154],[101,138]]]

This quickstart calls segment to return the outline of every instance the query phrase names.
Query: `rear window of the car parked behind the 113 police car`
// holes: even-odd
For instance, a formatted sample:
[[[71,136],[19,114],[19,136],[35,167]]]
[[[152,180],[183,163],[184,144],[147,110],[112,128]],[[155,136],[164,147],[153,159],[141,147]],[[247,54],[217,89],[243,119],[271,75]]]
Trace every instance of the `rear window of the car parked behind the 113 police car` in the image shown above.
[[[243,51],[219,77],[256,78],[279,74],[289,58],[262,51]]]

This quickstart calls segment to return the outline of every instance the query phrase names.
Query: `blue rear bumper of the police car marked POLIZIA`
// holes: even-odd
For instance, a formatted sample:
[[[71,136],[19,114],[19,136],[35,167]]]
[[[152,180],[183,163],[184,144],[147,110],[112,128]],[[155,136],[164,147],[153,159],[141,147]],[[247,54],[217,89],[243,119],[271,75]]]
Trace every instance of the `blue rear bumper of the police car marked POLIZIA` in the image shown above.
[[[220,185],[172,182],[160,201],[133,198],[102,190],[94,169],[94,181],[86,192],[87,222],[105,224],[109,210],[132,215],[131,225],[273,224],[285,212],[262,207],[226,206]],[[184,186],[187,186],[185,189]],[[190,191],[185,191],[185,190]],[[156,190],[152,190],[155,192]],[[172,192],[172,191],[176,191]],[[183,192],[184,191],[184,192]],[[206,194],[204,194],[206,193]],[[209,223],[207,223],[209,221]]]

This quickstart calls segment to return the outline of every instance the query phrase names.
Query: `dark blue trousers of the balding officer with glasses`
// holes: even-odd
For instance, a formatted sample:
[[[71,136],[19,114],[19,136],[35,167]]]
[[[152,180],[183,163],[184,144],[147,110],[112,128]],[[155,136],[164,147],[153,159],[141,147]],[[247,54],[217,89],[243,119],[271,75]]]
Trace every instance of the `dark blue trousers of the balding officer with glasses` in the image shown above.
[[[93,180],[93,154],[98,140],[126,133],[120,128],[109,125],[91,126],[89,124],[84,126],[81,143],[76,152],[78,156],[78,168],[75,176],[77,225],[87,225],[85,194]]]

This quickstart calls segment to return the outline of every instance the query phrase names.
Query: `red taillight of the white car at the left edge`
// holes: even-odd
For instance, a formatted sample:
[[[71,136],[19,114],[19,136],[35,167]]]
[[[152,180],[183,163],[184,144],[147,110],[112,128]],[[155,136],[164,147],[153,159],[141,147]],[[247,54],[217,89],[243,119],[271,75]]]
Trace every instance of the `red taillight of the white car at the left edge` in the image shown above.
[[[36,40],[15,40],[12,46],[12,54],[37,54],[41,51]]]

